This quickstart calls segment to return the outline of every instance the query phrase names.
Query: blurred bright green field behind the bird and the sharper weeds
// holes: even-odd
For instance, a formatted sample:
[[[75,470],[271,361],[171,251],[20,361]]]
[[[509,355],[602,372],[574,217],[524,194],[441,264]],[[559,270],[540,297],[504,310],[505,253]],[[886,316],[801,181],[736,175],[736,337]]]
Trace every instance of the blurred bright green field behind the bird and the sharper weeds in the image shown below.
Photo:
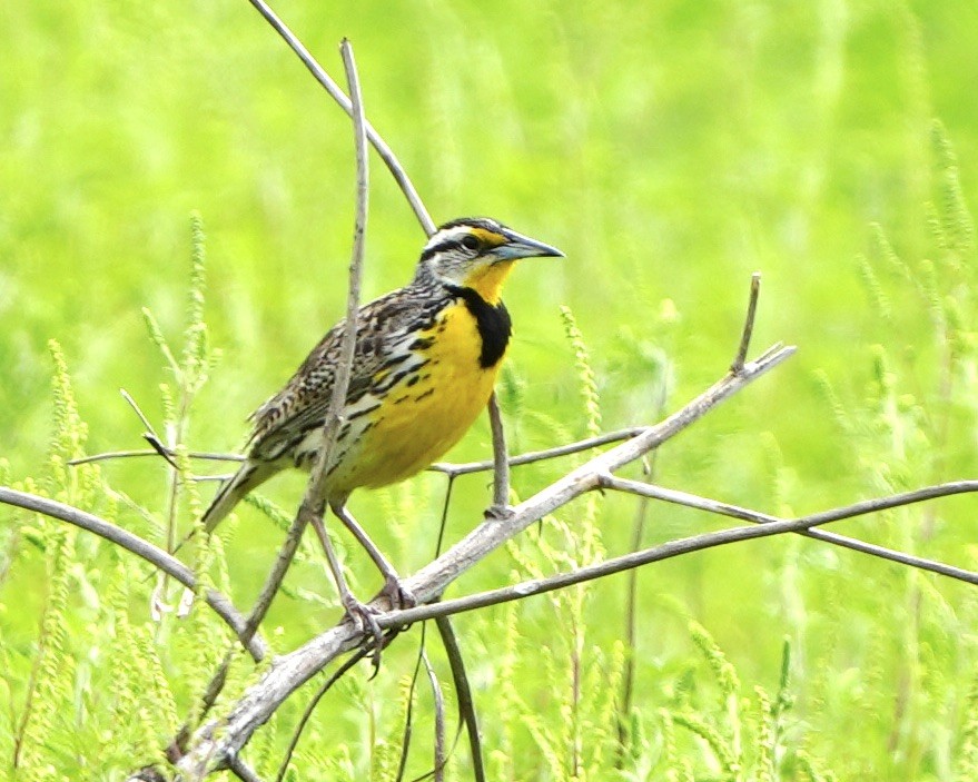
[[[978,189],[975,4],[289,0],[276,10],[337,80],[336,47],[350,38],[368,117],[436,220],[491,215],[566,253],[524,263],[507,288],[514,451],[586,433],[560,305],[572,308],[589,347],[602,426],[650,423],[663,384],[672,410],[725,372],[759,270],[754,348],[783,340],[799,353],[669,443],[658,481],[801,514],[975,475],[975,253],[960,212]],[[12,479],[43,473],[52,337],[89,452],[141,446],[120,387],[160,420],[158,385],[171,378],[140,308],[178,341],[191,210],[206,227],[206,317],[223,356],[188,443],[240,447],[245,416],[343,309],[354,211],[348,120],[245,2],[34,0],[7,3],[0,19],[0,456]],[[365,298],[409,278],[424,238],[376,157],[372,167]],[[905,266],[888,260],[883,236]],[[480,422],[451,457],[488,453]],[[517,471],[514,487],[528,496],[564,468]],[[160,465],[116,463],[103,474],[161,513]],[[290,476],[267,492],[292,508],[302,487]],[[352,507],[413,571],[434,546],[443,487],[423,476],[360,493]],[[460,482],[450,540],[478,521],[487,497],[484,477]],[[634,508],[630,498],[601,502],[609,554],[628,550]],[[967,497],[940,501],[837,531],[969,567],[975,511]],[[562,516],[572,531],[575,513]],[[229,568],[247,602],[279,536],[255,511],[239,515]],[[154,534],[125,507],[118,519]],[[644,544],[718,524],[653,506]],[[0,526],[0,542],[13,540],[12,526]],[[85,545],[105,561],[103,548]],[[516,577],[533,550],[524,541],[522,554],[495,555],[454,594]],[[0,561],[0,641],[24,672],[45,570],[41,558],[18,556],[11,544]],[[302,588],[332,600],[318,565],[303,567]],[[354,567],[369,591],[369,571]],[[612,655],[624,635],[624,592],[618,576],[589,593],[584,647]],[[525,601],[505,621],[525,650],[539,649],[566,630],[557,607]],[[693,618],[740,672],[744,697],[755,684],[777,690],[782,640],[791,640],[791,742],[840,779],[955,779],[965,773],[968,715],[978,719],[967,700],[975,608],[974,587],[787,537],[649,567],[634,707],[651,736],[639,754],[653,768],[643,776],[636,765],[628,778],[664,779],[651,725],[676,689],[697,686],[683,679],[697,670],[685,628]],[[140,611],[145,601],[134,604]],[[292,596],[276,606],[269,633],[280,627],[285,650],[334,616]],[[522,753],[514,779],[555,779],[530,752],[539,745],[530,720],[505,736],[492,726],[494,627],[506,616],[458,620],[485,693],[486,741]],[[79,649],[98,649],[96,630],[81,620],[72,630]],[[399,654],[385,661],[386,681],[371,685],[377,693],[396,694],[411,665]],[[97,680],[97,654],[90,666]],[[556,695],[533,691],[533,669],[526,662],[513,675],[525,676],[534,713],[560,720]],[[23,676],[14,681],[16,711]],[[325,710],[359,725],[357,697],[366,696],[346,693]],[[349,743],[353,768],[369,763],[362,726],[322,730]],[[703,768],[702,778],[718,775]]]

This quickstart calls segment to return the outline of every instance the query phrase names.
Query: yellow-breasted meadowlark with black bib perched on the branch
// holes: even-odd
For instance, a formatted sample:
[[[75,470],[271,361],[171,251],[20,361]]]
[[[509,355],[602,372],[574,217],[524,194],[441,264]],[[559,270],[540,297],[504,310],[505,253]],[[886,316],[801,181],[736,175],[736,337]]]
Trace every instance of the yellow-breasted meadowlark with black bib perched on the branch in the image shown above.
[[[563,255],[495,219],[458,218],[428,238],[411,283],[357,311],[349,385],[326,466],[326,504],[367,551],[395,605],[409,605],[413,596],[347,511],[347,499],[354,489],[415,475],[462,438],[488,404],[510,344],[502,289],[515,261]],[[329,329],[249,417],[245,461],[201,518],[208,533],[276,473],[312,469],[324,446],[344,327],[340,320]],[[320,537],[347,612],[369,618]]]

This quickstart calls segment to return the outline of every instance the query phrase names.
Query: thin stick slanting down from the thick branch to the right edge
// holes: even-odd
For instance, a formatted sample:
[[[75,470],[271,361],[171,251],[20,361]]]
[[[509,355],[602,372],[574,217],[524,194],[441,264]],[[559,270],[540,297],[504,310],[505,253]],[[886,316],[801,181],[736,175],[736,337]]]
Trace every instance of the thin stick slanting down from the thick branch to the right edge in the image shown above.
[[[740,518],[745,522],[753,522],[754,524],[770,524],[772,522],[784,521],[779,516],[772,516],[767,513],[759,513],[757,511],[739,507],[737,505],[720,503],[715,499],[698,497],[695,495],[688,494],[686,492],[679,492],[672,488],[663,488],[662,486],[655,486],[652,484],[642,483],[640,481],[629,481],[628,478],[619,478],[609,475],[603,478],[603,483],[605,488],[612,488],[620,492],[629,492],[630,494],[638,494],[639,496],[652,499],[662,499],[663,502],[673,503],[675,505],[684,505],[686,507],[707,511],[708,513],[714,513],[721,516],[730,516],[731,518]],[[930,499],[932,497],[945,496],[945,493],[960,494],[976,491],[975,488],[971,488],[972,485],[978,486],[978,482],[960,481],[952,484],[942,484],[941,486],[937,487],[917,489],[917,492],[911,492],[910,495],[918,496],[921,493],[925,493],[921,498]],[[932,493],[935,489],[941,491],[938,493]],[[901,497],[908,495],[896,496]],[[875,503],[881,501],[867,502]],[[804,535],[806,537],[812,537],[817,541],[823,541],[826,543],[831,543],[837,546],[842,546],[844,548],[851,548],[852,551],[857,551],[862,554],[869,554],[881,560],[889,560],[891,562],[897,562],[901,565],[909,565],[911,567],[917,567],[922,571],[930,571],[931,573],[937,573],[938,575],[955,578],[957,581],[962,581],[967,584],[978,585],[978,573],[975,573],[972,571],[966,571],[961,567],[955,567],[954,565],[948,565],[942,562],[936,562],[933,560],[915,556],[913,554],[906,554],[903,552],[893,551],[891,548],[885,548],[883,546],[878,546],[873,543],[867,543],[865,541],[847,537],[844,535],[839,535],[837,533],[828,532],[826,529],[802,531],[799,534]]]

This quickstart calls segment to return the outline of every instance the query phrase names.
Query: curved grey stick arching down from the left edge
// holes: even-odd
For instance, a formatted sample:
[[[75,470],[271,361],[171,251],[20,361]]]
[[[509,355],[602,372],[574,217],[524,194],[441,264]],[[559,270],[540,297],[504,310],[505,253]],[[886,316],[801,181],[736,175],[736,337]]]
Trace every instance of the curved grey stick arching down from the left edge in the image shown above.
[[[77,507],[65,505],[48,497],[39,497],[36,494],[27,492],[18,492],[13,488],[0,486],[0,503],[6,505],[14,505],[27,511],[42,513],[51,518],[58,518],[68,524],[95,533],[106,538],[110,543],[121,546],[126,551],[146,560],[149,564],[158,567],[168,575],[176,578],[188,590],[197,587],[197,578],[194,572],[182,562],[167,554],[162,548],[158,548],[148,541],[144,541],[138,535],[134,535],[127,529],[116,526],[105,518],[80,511]],[[238,613],[231,602],[217,590],[208,590],[204,595],[207,605],[214,608],[215,613],[230,627],[235,634],[241,639],[241,644],[248,650],[248,653],[255,660],[260,662],[267,653],[265,641],[258,635],[248,636],[246,641],[247,623],[245,617]]]

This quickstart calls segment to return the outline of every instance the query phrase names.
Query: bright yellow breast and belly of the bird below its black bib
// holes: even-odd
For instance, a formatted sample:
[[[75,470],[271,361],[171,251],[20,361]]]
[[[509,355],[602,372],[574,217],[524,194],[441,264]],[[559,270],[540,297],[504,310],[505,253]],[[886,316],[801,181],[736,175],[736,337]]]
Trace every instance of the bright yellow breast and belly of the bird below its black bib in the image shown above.
[[[418,473],[455,445],[488,403],[502,360],[481,366],[482,339],[464,303],[444,309],[417,337],[431,341],[422,348],[426,363],[371,414],[334,486],[385,486]]]

